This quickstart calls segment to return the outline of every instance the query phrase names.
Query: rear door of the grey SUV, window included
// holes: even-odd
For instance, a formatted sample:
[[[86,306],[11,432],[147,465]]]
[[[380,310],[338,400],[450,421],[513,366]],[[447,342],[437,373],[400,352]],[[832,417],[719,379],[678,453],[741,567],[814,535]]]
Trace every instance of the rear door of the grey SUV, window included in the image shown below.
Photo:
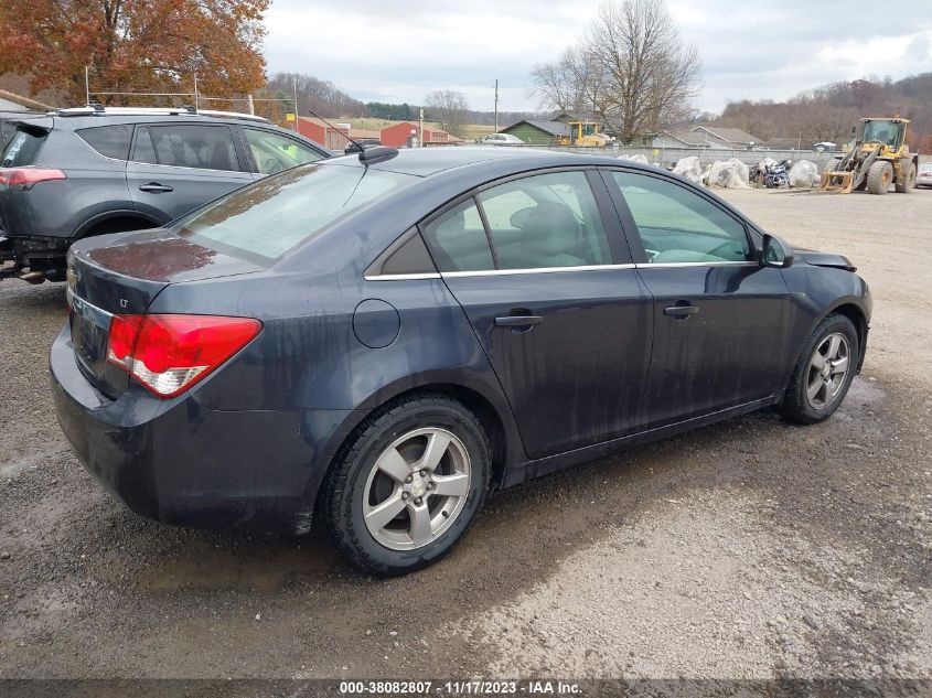
[[[126,179],[133,205],[167,223],[253,181],[226,124],[136,127]]]

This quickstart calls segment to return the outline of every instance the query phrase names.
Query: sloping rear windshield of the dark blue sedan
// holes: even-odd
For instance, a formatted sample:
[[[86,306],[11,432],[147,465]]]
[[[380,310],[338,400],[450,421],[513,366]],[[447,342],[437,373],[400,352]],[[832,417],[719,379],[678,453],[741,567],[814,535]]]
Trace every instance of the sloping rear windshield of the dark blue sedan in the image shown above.
[[[372,169],[299,165],[189,214],[172,229],[221,251],[272,261],[351,211],[413,181]]]

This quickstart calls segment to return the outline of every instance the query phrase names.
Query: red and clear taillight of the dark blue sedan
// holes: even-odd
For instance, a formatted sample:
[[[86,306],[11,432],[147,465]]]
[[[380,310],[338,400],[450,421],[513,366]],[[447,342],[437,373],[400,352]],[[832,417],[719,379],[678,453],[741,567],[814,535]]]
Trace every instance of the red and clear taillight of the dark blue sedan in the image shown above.
[[[107,361],[160,398],[181,395],[263,330],[251,318],[114,315]]]

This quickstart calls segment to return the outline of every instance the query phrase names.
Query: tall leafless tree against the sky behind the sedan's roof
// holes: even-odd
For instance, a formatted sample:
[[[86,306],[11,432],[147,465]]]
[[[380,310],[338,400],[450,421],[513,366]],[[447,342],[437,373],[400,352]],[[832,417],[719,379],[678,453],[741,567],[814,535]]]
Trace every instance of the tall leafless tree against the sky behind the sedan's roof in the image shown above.
[[[615,0],[554,64],[532,74],[542,104],[594,111],[622,142],[687,119],[701,64],[665,0]]]

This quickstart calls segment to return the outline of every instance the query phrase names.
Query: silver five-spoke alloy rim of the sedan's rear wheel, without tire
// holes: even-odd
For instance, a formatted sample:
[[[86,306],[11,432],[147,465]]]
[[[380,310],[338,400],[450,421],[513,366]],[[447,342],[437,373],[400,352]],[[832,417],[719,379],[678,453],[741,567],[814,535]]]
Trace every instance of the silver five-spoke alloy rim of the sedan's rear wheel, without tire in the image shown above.
[[[373,538],[393,550],[414,550],[447,530],[470,492],[470,459],[446,429],[415,429],[376,459],[363,490],[363,518]]]

